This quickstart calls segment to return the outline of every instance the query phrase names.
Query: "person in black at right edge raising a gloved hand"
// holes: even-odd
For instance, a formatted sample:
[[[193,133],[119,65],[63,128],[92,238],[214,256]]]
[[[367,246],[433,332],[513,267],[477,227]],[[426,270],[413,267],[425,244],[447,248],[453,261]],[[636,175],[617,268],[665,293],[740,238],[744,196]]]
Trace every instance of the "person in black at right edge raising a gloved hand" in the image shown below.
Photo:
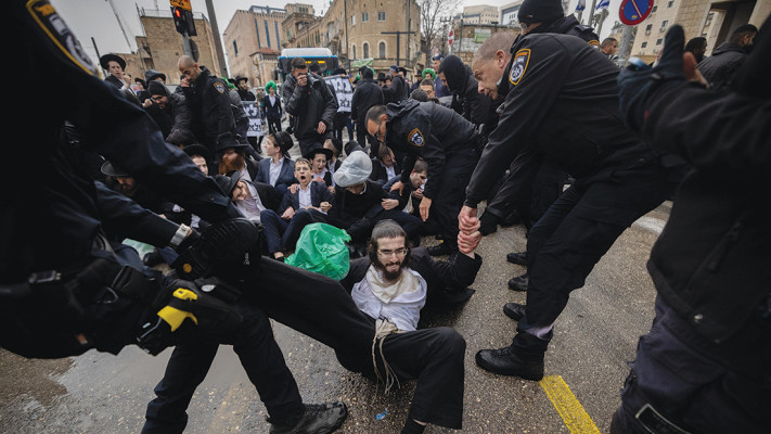
[[[621,406],[622,433],[769,433],[771,21],[730,88],[714,92],[670,28],[654,68],[619,75],[621,114],[691,169],[647,264],[658,292]],[[705,81],[706,84],[706,81]]]

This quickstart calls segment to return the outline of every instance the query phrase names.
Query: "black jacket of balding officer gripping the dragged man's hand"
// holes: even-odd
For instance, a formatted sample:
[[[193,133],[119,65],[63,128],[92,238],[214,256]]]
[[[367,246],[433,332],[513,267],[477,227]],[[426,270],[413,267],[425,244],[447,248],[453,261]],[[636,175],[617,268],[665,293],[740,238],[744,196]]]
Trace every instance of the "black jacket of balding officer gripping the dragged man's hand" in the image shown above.
[[[502,78],[510,90],[498,127],[466,188],[475,207],[525,151],[553,161],[574,178],[590,178],[655,155],[618,112],[618,67],[583,40],[532,34],[513,47]],[[431,177],[428,178],[431,182]]]

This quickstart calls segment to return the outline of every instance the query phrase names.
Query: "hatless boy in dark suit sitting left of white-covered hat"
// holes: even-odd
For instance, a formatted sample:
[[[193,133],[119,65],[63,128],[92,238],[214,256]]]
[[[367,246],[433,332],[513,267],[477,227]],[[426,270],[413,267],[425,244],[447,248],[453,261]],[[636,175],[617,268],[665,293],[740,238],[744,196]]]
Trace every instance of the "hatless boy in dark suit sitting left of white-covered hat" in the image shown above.
[[[303,228],[312,222],[326,221],[326,213],[335,203],[329,189],[321,182],[311,181],[308,159],[297,158],[294,174],[299,180],[296,191],[284,193],[278,212],[265,209],[260,213],[268,254],[279,260],[284,260],[285,252],[294,251]]]

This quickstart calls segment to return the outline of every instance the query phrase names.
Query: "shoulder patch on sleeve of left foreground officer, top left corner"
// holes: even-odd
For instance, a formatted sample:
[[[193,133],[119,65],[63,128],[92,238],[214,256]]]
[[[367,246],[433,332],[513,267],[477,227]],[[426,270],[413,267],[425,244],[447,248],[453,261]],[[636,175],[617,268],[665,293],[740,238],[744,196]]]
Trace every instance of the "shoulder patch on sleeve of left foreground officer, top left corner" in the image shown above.
[[[47,0],[27,2],[27,11],[54,46],[73,63],[86,73],[98,76],[97,66],[83,50],[78,38],[69,29],[67,23],[59,16],[56,10]]]

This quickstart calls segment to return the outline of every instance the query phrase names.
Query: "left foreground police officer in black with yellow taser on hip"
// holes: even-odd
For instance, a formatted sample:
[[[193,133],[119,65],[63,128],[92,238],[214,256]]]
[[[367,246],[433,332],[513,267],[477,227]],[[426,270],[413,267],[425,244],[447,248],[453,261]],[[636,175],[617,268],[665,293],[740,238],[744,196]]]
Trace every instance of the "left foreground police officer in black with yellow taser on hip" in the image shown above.
[[[184,259],[200,259],[185,263],[180,273],[190,268],[206,276],[207,267],[228,264],[256,273],[236,259],[249,255],[259,264],[259,254],[250,252],[258,228],[239,218],[229,197],[188,155],[164,142],[141,107],[98,78],[82,47],[48,1],[16,0],[8,9],[8,28],[18,38],[9,54],[31,78],[43,80],[53,72],[67,87],[53,90],[61,98],[50,98],[51,89],[39,89],[10,115],[16,128],[35,133],[24,146],[9,148],[5,156],[24,161],[33,153],[38,171],[28,176],[5,170],[0,178],[0,345],[25,357],[59,358],[92,348],[117,354],[130,344],[158,354],[177,343],[235,344],[249,335],[248,342],[258,346],[254,354],[259,355],[249,360],[250,367],[273,371],[264,375],[266,383],[255,380],[272,387],[270,392],[265,387],[267,399],[275,404],[266,403],[275,410],[271,432],[307,426],[333,431],[345,419],[345,407],[312,406],[308,411],[310,406],[290,382],[292,374],[266,315],[235,303],[239,290],[210,276],[195,282],[175,279],[181,275],[163,276],[142,267],[132,248],[107,241],[129,237],[171,246]],[[35,105],[42,98],[51,100],[44,113]],[[65,120],[79,133],[79,148],[64,140]],[[138,181],[217,229],[204,232],[198,241],[189,227],[163,219],[93,181],[78,164],[93,152],[119,163]],[[196,275],[187,277],[192,280]],[[211,291],[201,291],[202,284]],[[254,341],[255,335],[261,341]]]

